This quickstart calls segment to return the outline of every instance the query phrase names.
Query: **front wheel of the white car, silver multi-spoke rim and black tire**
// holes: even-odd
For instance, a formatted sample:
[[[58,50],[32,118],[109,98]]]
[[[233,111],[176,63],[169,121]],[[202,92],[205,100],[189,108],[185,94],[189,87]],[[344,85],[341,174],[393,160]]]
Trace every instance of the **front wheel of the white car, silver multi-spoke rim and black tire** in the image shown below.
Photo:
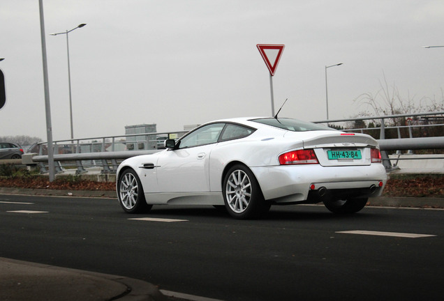
[[[145,213],[152,207],[147,204],[142,184],[133,169],[126,169],[119,176],[117,196],[126,213]]]

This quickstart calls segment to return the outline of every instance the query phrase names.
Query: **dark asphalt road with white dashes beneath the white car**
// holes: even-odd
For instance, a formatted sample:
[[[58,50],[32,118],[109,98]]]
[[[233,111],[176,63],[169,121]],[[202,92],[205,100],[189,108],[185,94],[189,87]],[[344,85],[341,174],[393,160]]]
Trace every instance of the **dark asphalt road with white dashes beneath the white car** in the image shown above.
[[[284,206],[239,221],[208,206],[127,215],[116,199],[0,195],[0,256],[219,300],[442,300],[443,217]]]

